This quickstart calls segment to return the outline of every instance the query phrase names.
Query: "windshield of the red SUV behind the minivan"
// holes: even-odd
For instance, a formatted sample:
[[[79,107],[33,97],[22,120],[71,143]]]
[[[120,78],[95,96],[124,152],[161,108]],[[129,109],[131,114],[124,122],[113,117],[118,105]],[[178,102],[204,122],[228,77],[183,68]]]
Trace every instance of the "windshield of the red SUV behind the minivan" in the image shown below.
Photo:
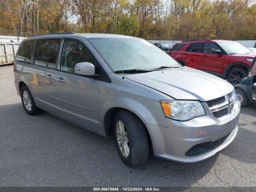
[[[250,49],[242,44],[234,41],[230,42],[218,42],[218,44],[226,51],[227,54],[237,54],[237,53],[252,53]]]

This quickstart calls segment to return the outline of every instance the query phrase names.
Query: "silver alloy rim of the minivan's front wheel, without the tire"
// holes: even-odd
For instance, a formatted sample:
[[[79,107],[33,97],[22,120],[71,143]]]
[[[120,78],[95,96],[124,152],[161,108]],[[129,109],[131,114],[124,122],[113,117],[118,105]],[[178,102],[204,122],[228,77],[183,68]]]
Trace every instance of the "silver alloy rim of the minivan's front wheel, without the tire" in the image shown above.
[[[124,127],[124,123],[120,120],[118,120],[116,123],[116,138],[122,155],[127,158],[130,151],[129,140]]]

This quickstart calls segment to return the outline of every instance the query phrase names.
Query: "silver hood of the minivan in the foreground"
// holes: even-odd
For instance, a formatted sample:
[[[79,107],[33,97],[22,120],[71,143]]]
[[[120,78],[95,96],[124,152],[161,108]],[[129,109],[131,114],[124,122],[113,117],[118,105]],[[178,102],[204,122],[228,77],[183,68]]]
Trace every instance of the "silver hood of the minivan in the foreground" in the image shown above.
[[[221,78],[186,66],[129,74],[126,78],[177,100],[208,101],[224,96],[234,89]]]

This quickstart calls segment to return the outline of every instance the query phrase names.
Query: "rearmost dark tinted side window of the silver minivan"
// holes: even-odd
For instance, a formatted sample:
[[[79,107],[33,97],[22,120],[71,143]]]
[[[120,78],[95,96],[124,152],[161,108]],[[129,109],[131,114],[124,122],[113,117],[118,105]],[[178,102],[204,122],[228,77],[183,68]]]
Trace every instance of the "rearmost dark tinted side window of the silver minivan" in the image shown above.
[[[16,60],[30,63],[33,44],[34,40],[29,40],[22,43],[18,53],[16,54]]]

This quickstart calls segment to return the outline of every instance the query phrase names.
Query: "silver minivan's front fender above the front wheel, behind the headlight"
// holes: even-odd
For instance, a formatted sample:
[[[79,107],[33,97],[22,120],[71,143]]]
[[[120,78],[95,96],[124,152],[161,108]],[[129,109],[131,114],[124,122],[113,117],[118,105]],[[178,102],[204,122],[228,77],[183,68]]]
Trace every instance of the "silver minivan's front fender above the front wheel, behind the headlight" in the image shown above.
[[[136,114],[144,124],[168,127],[160,100],[170,100],[170,96],[132,82],[122,80],[122,86],[100,82],[98,94],[99,131],[106,133],[104,118],[113,108],[123,108]]]

